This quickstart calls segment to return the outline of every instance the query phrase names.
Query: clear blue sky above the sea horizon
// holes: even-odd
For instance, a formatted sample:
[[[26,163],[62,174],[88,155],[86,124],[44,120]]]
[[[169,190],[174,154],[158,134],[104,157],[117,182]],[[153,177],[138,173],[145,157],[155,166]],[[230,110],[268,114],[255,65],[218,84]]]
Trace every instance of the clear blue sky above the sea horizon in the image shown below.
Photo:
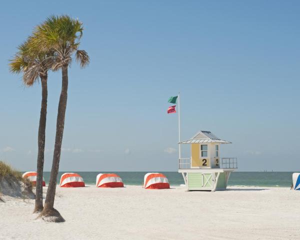
[[[2,2],[0,159],[36,169],[41,86],[7,63],[35,25],[69,14],[90,64],[69,68],[61,171],[176,171],[178,116],[166,109],[179,91],[181,140],[210,130],[240,171],[300,170],[299,11],[296,0]],[[45,171],[60,88],[49,72]]]

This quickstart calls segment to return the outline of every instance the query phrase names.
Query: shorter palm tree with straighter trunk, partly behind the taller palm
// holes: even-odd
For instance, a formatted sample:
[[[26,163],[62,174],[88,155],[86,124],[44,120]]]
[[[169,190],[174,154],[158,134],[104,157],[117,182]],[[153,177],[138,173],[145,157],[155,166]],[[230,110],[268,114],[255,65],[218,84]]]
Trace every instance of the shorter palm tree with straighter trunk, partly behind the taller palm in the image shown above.
[[[45,128],[47,115],[47,71],[53,64],[52,52],[37,50],[31,46],[32,37],[18,46],[18,51],[9,62],[9,70],[12,73],[23,73],[25,86],[32,86],[40,79],[41,82],[41,107],[38,126],[38,152],[37,152],[37,176],[35,187],[35,206],[33,212],[40,212],[42,205],[42,173],[45,148]]]

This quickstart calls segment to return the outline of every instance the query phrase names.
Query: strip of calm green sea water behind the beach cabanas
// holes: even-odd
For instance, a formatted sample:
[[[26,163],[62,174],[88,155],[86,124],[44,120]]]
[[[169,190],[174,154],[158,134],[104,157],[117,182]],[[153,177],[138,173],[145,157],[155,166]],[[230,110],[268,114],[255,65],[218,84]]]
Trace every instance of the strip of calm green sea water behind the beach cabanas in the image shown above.
[[[70,171],[72,172],[72,171]],[[59,182],[61,174],[59,172],[57,182]],[[86,184],[95,184],[96,175],[99,172],[95,171],[77,171],[82,177]],[[104,172],[102,172],[104,173]],[[119,171],[114,172],[118,174],[124,184],[127,185],[141,185],[143,182],[144,171]],[[184,184],[181,173],[166,171],[161,172],[166,175],[171,185]],[[292,172],[232,172],[228,181],[228,185],[243,185],[243,186],[281,186],[289,187],[291,185]],[[44,172],[44,178],[46,184],[49,181],[50,172]]]

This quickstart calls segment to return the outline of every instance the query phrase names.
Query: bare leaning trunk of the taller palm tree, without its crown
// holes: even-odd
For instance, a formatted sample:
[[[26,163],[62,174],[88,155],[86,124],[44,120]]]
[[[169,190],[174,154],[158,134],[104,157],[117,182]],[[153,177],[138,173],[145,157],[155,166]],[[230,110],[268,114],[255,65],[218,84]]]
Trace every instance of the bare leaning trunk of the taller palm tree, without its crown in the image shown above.
[[[50,180],[47,189],[47,195],[45,199],[45,205],[41,216],[51,216],[51,220],[55,222],[64,221],[62,216],[59,214],[57,210],[54,209],[54,198],[55,198],[55,190],[56,190],[56,179],[58,174],[59,160],[60,160],[60,151],[61,151],[61,142],[63,135],[63,127],[64,127],[64,115],[66,108],[66,100],[67,100],[67,64],[64,64],[61,68],[62,70],[62,84],[61,84],[61,92],[58,103],[58,112],[57,112],[57,120],[56,120],[56,135],[55,135],[55,145],[53,152],[53,161],[52,168],[50,173]]]

